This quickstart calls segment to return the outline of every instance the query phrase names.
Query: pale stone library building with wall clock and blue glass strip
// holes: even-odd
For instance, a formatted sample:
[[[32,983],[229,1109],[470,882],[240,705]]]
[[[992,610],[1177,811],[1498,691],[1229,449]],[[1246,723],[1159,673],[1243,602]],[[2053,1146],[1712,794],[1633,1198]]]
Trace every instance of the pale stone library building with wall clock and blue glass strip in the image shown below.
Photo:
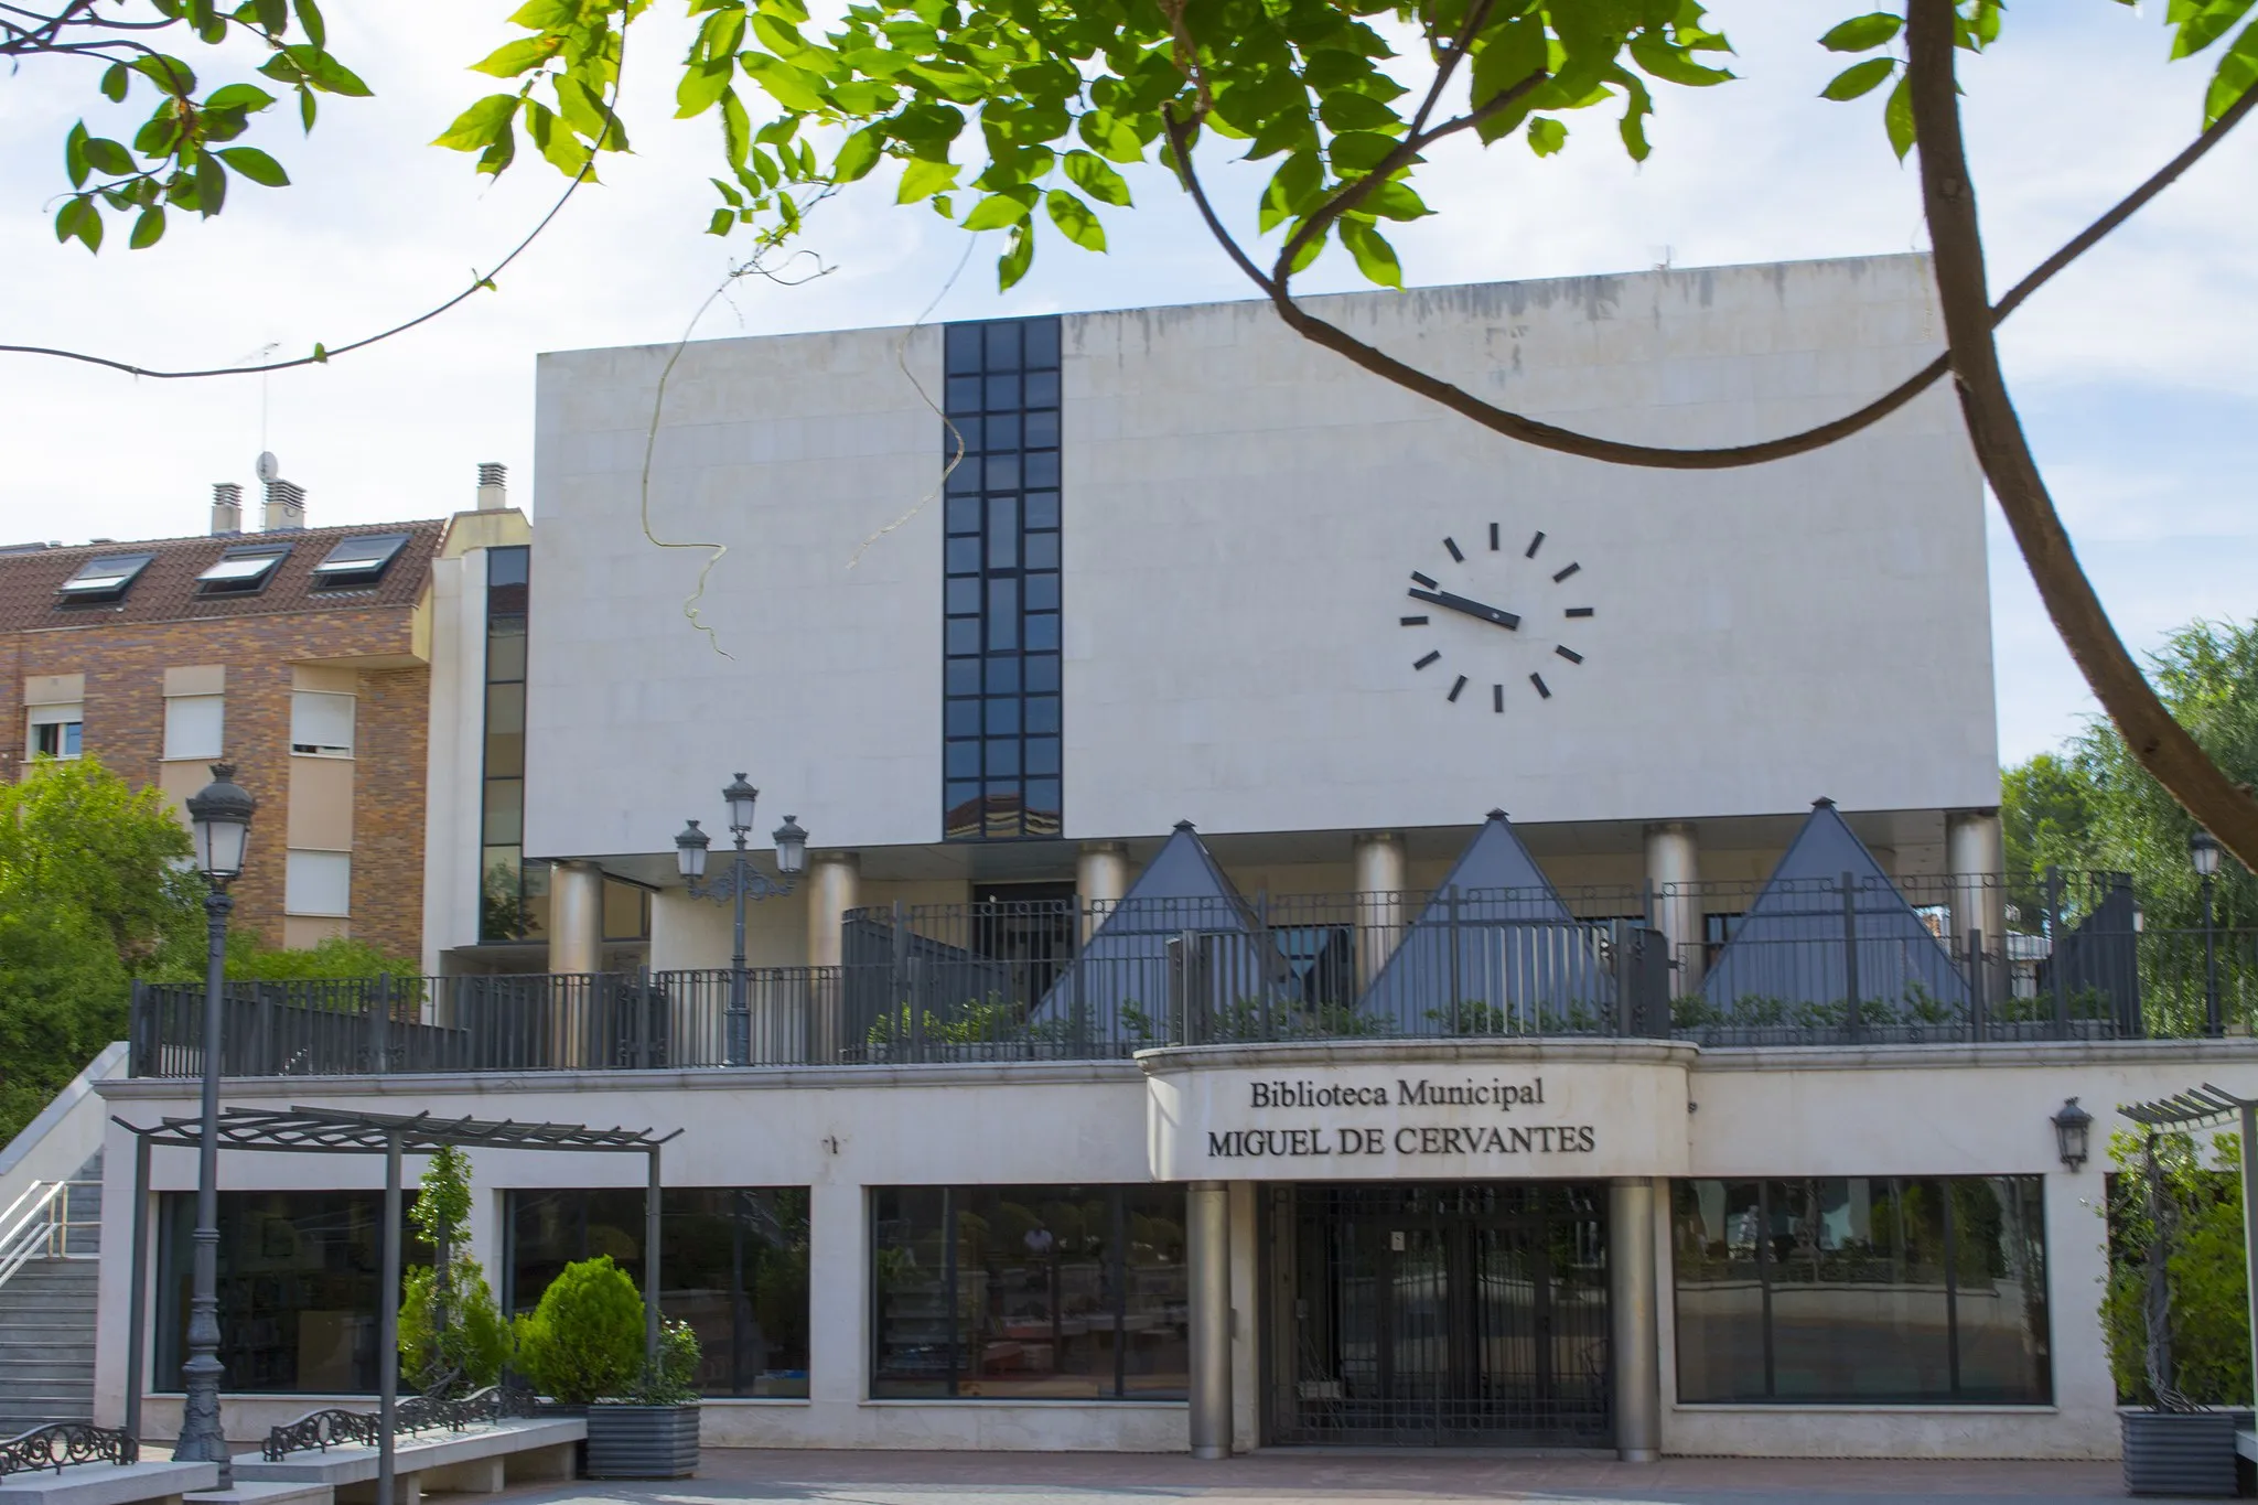
[[[1312,305],[1657,445],[1942,347],[1913,255]],[[2258,1049],[2127,880],[2003,871],[1946,388],[1657,472],[1258,302],[693,343],[653,440],[666,361],[542,357],[420,975],[230,984],[226,1112],[664,1137],[472,1151],[472,1246],[506,1311],[655,1259],[707,1446],[2116,1455],[2118,1103]],[[151,1437],[201,1018],[142,986],[97,1085]],[[382,1171],[221,1155],[230,1435],[375,1390]]]

